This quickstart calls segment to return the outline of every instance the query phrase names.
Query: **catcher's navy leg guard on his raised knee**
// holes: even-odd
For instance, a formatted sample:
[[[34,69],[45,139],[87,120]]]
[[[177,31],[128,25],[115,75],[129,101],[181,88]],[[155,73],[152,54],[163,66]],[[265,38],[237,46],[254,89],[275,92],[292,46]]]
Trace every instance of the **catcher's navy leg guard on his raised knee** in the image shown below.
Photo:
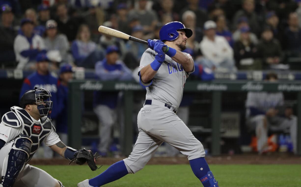
[[[14,139],[14,144],[3,163],[0,182],[3,187],[11,187],[14,185],[18,174],[29,158],[32,144],[33,142],[27,135],[20,135]]]

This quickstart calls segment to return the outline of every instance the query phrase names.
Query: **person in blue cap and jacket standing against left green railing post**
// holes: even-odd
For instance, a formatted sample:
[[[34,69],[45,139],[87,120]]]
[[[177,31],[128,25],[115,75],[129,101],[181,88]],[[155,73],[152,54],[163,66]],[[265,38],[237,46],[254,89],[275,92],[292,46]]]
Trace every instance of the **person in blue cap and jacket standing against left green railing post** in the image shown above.
[[[60,103],[60,113],[56,120],[56,133],[61,141],[68,143],[68,83],[72,79],[72,66],[65,64],[60,68],[60,84],[58,85],[57,96]]]

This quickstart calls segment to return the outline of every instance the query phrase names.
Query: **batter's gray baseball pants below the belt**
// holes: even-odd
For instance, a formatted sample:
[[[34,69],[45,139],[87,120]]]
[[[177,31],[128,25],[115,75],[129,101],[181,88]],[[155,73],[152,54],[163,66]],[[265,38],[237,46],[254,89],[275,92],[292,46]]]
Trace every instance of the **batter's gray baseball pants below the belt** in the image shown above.
[[[152,99],[152,105],[144,105],[138,113],[138,138],[130,156],[123,161],[129,173],[144,168],[165,141],[188,156],[188,160],[205,156],[203,145],[185,123],[165,102]]]

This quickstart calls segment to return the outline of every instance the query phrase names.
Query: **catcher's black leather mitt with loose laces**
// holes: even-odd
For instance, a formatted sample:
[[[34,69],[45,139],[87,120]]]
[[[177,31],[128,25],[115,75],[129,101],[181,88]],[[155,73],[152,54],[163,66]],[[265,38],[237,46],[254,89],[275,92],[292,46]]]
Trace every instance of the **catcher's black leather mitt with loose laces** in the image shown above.
[[[99,158],[99,157],[101,157],[101,156],[95,157],[95,155],[93,155],[93,153],[91,151],[88,151],[85,148],[83,148],[83,149],[78,150],[75,153],[75,158],[72,159],[71,162],[75,162],[78,165],[83,165],[83,164],[85,164],[85,162],[87,162],[87,164],[91,168],[91,170],[95,171],[95,170],[101,168],[101,166],[102,166],[101,165],[99,168],[96,166],[96,158]]]

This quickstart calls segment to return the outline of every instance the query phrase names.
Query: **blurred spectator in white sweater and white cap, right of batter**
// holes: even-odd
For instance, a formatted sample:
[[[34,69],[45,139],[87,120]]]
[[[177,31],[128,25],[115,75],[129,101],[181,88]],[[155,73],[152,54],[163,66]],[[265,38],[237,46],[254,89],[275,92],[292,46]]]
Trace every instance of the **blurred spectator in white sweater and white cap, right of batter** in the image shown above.
[[[236,71],[233,49],[225,37],[216,35],[216,23],[214,21],[206,21],[204,30],[205,36],[200,43],[200,49],[204,57],[210,62],[202,64],[203,67],[219,72]]]

